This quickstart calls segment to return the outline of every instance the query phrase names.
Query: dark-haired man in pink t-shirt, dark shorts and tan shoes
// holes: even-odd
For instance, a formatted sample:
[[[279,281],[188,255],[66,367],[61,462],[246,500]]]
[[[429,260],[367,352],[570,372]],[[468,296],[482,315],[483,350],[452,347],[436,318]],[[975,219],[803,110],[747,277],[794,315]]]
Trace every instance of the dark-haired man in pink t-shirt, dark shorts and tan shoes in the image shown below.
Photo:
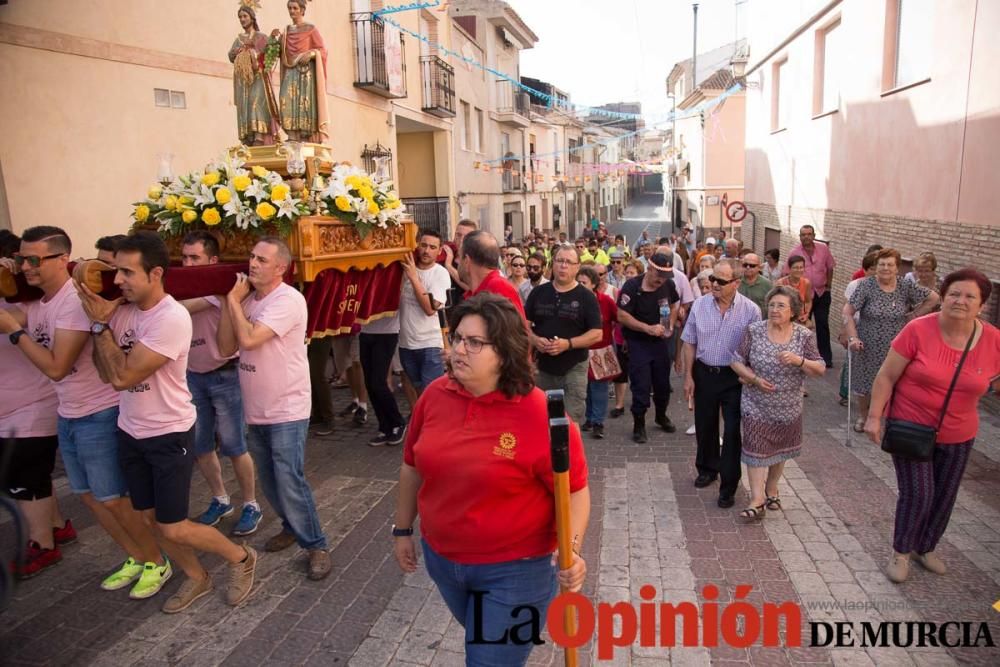
[[[164,550],[188,575],[163,611],[187,609],[211,592],[212,579],[194,549],[229,563],[226,601],[239,605],[253,587],[256,552],[187,518],[196,418],[186,375],[191,316],[163,290],[167,247],[157,234],[138,232],[119,243],[115,264],[123,299],[109,302],[76,286],[93,321],[101,379],[121,392],[119,459],[132,505],[155,523]],[[128,305],[119,307],[123,300]],[[163,580],[171,573],[168,563]]]

